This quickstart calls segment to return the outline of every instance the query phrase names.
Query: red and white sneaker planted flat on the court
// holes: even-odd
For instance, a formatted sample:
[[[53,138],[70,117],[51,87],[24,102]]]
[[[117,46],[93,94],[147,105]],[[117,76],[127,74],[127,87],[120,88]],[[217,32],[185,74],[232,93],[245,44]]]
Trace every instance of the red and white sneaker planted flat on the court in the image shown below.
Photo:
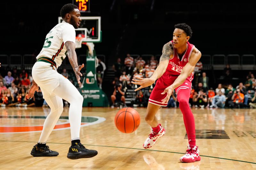
[[[200,161],[198,146],[188,145],[187,152],[180,158],[180,162],[195,162]]]

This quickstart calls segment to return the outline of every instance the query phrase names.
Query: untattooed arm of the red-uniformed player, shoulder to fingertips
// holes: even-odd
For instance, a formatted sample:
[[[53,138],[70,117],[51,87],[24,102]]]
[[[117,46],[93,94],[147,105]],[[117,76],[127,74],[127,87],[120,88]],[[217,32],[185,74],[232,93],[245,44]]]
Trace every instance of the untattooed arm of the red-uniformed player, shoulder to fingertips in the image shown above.
[[[196,63],[201,58],[201,52],[195,47],[190,55],[189,62],[184,66],[184,68],[180,72],[180,76],[173,82],[172,85],[164,89],[164,92],[161,94],[164,94],[167,92],[167,96],[162,100],[162,104],[169,101],[170,96],[172,94],[172,91],[179,87],[186,78],[194,71]]]

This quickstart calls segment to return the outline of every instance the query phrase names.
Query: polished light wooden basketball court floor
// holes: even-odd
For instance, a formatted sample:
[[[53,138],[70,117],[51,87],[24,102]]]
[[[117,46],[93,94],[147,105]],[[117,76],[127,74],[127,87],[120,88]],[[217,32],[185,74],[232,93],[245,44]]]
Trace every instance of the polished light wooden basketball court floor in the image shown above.
[[[256,168],[256,109],[193,109],[201,155],[201,161],[195,163],[179,161],[188,144],[179,108],[158,111],[157,119],[166,134],[148,150],[142,147],[150,133],[144,121],[146,108],[135,109],[140,113],[140,127],[134,133],[124,134],[114,124],[117,108],[84,107],[81,141],[85,147],[97,150],[98,155],[71,160],[67,158],[68,108],[64,108],[47,143],[50,149],[60,153],[57,157],[30,155],[49,108],[0,108],[0,169]]]

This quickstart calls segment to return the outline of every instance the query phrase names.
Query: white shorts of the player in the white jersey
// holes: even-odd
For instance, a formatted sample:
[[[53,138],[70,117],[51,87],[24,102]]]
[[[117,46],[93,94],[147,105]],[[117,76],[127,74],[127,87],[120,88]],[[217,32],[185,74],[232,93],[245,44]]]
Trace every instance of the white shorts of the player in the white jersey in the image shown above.
[[[54,70],[53,67],[51,67],[50,63],[39,61],[32,68],[32,77],[40,87],[44,99],[55,95],[52,91],[60,85],[60,82],[69,81],[58,73],[55,67]]]

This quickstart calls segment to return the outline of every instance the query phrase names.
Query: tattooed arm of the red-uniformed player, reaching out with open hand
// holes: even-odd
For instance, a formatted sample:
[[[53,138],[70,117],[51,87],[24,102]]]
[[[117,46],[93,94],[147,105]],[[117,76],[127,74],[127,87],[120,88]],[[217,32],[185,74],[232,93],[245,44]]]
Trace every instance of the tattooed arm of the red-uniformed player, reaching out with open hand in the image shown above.
[[[139,88],[135,89],[134,91],[138,91],[144,87],[148,87],[152,85],[158,78],[160,78],[165,70],[167,69],[169,59],[173,55],[173,48],[171,46],[171,43],[168,42],[164,44],[162,55],[160,57],[160,62],[156,70],[154,71],[153,75],[150,78],[139,78],[135,77],[139,80],[132,79],[132,84],[140,85]]]

